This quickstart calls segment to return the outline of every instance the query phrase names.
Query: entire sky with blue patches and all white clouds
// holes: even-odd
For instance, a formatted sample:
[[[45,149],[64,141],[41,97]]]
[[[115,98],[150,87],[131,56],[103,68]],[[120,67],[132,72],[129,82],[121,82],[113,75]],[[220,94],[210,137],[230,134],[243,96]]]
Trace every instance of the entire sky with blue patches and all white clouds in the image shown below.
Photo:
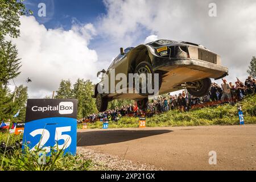
[[[50,95],[61,79],[96,82],[97,71],[109,67],[120,47],[148,37],[203,44],[229,68],[228,82],[245,80],[256,52],[256,1],[214,0],[216,17],[209,16],[212,2],[24,0],[34,15],[20,18],[20,37],[13,40],[22,59],[15,82],[28,86],[30,98]],[[46,4],[46,18],[38,16],[39,3]]]

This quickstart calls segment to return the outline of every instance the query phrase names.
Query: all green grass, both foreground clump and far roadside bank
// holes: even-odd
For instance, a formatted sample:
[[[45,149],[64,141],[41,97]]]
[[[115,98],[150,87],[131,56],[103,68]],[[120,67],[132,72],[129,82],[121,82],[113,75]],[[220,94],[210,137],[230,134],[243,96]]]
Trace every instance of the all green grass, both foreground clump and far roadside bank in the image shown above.
[[[245,118],[245,124],[256,123],[256,95],[248,96],[240,102]],[[167,113],[154,115],[146,119],[147,127],[165,126],[201,126],[201,125],[238,125],[239,119],[237,106],[229,104],[217,107],[208,107],[181,113],[180,111],[168,111]],[[109,122],[109,128],[138,127],[138,118],[123,117],[118,122]],[[78,126],[79,129],[82,125]],[[102,122],[89,123],[88,129],[101,129]],[[9,137],[10,136],[10,137]],[[14,144],[22,135],[0,133],[0,142],[9,137],[8,146]],[[62,150],[56,150],[51,156],[46,157],[46,164],[39,164],[39,152],[21,149],[15,150],[13,154],[0,154],[1,170],[90,170],[93,167],[91,160],[84,160],[81,155],[63,155]]]

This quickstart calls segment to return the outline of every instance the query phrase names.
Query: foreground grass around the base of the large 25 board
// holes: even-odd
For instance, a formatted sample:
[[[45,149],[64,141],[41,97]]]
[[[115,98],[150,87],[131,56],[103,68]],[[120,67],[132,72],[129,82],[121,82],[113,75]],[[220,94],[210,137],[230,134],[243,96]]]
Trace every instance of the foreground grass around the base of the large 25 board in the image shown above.
[[[9,137],[10,136],[10,137]],[[9,137],[8,146],[14,144],[22,135],[14,135],[9,133],[0,133],[0,141],[7,142]],[[13,154],[5,152],[0,154],[0,171],[44,171],[44,170],[72,170],[72,171],[85,171],[90,170],[93,166],[91,160],[84,160],[81,155],[64,155],[63,150],[55,150],[51,156],[46,156],[46,164],[39,163],[39,154],[42,149],[36,151],[29,151],[25,147],[24,152],[21,149],[14,150]],[[40,160],[42,161],[42,160]]]

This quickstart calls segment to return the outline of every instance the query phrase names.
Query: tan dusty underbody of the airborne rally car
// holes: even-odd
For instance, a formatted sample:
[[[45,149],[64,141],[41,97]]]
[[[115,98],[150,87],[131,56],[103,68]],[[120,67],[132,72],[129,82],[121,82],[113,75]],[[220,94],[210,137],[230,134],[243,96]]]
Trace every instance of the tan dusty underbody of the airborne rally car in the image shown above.
[[[225,67],[195,59],[183,59],[169,62],[164,66],[162,65],[160,69],[155,69],[155,71],[159,70],[164,72],[164,74],[161,75],[162,86],[159,89],[159,95],[185,88],[196,88],[196,86],[192,86],[189,83],[203,78],[214,78],[217,80],[227,75]],[[195,78],[197,79],[195,80]],[[111,101],[114,99],[141,100],[145,96],[141,96],[139,93],[113,93],[108,94],[106,97]]]

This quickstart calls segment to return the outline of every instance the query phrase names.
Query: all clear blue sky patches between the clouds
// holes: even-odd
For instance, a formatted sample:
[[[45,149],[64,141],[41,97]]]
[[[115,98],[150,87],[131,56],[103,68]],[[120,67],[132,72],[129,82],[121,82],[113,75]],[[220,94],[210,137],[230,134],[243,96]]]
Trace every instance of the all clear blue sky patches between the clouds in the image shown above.
[[[92,23],[95,26],[99,19],[108,13],[104,0],[25,0],[24,3],[28,10],[34,12],[33,16],[36,20],[47,29],[61,27],[64,30],[70,30],[74,22]],[[38,16],[39,3],[46,4],[46,18]],[[119,47],[137,46],[143,43],[150,35],[150,31],[147,28],[142,28],[142,30],[138,30],[137,34],[140,36],[134,42],[125,44],[108,43],[110,40],[102,34],[92,36],[88,47],[97,51],[99,61],[110,61],[118,55]]]

